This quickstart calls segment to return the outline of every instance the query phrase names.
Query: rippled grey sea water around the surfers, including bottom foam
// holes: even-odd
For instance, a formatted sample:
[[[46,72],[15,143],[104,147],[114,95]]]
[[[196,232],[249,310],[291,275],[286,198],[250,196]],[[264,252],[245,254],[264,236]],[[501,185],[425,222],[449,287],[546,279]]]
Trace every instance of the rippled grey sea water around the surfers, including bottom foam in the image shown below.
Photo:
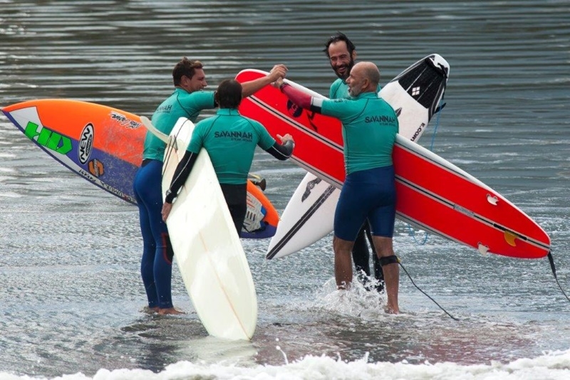
[[[182,56],[214,89],[289,67],[318,93],[343,31],[387,83],[439,53],[445,107],[420,144],[532,216],[570,292],[570,4],[540,1],[0,0],[0,106],[56,97],[152,115]],[[203,116],[209,115],[204,112]],[[259,152],[282,211],[304,171]],[[173,269],[175,305],[141,312],[135,206],[72,174],[0,117],[0,379],[569,379],[570,302],[546,258],[482,256],[400,221],[401,315],[338,297],[331,236],[278,260],[244,240],[252,342],[209,337]]]

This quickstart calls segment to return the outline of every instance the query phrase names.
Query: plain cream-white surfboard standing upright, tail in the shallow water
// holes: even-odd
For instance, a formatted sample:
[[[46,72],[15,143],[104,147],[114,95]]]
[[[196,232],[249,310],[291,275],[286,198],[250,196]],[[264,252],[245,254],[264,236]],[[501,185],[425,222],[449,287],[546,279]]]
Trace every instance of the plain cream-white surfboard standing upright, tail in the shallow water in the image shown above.
[[[145,125],[148,119],[142,118]],[[162,196],[184,157],[194,125],[181,117],[170,133],[162,174]],[[257,295],[208,152],[202,149],[167,218],[175,261],[208,334],[251,339],[257,324]]]

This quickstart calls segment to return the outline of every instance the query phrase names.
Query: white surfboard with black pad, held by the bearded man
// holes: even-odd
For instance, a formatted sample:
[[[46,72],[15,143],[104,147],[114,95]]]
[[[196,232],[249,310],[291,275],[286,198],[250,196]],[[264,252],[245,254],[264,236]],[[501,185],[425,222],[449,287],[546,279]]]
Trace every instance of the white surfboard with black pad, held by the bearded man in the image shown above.
[[[379,95],[398,115],[403,137],[411,141],[420,139],[432,115],[437,112],[449,71],[447,61],[432,54],[418,60],[380,90]],[[281,215],[266,258],[291,255],[331,233],[340,195],[340,189],[307,173]]]

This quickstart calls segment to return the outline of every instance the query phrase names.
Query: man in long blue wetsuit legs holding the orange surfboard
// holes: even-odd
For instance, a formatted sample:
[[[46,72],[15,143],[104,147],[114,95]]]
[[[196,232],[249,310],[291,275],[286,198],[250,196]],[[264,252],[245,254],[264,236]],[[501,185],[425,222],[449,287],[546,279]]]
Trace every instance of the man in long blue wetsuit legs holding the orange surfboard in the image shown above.
[[[244,83],[244,97],[252,95],[265,85],[286,75],[284,65],[275,65],[264,78]],[[204,68],[199,60],[184,57],[172,70],[175,90],[152,115],[152,124],[170,134],[180,117],[195,122],[199,112],[217,107],[214,91],[207,86]],[[159,314],[179,314],[172,305],[172,246],[166,223],[162,221],[162,159],[166,144],[147,132],[142,152],[142,165],[137,171],[133,189],[137,199],[142,233],[140,272],[145,285],[148,308]]]

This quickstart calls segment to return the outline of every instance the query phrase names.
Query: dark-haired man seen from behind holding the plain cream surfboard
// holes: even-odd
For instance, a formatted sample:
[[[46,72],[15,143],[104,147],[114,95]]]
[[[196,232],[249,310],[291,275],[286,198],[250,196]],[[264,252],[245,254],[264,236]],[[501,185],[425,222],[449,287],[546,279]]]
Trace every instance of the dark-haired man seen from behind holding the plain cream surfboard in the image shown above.
[[[166,221],[172,202],[185,184],[192,171],[200,149],[204,147],[216,172],[229,212],[237,232],[242,230],[247,211],[247,174],[254,159],[255,147],[259,146],[276,159],[291,157],[294,141],[290,134],[275,141],[261,123],[239,115],[237,107],[242,101],[242,85],[228,79],[219,84],[216,101],[219,110],[216,115],[199,122],[194,131],[185,156],[178,164],[170,188],[162,206],[162,219]]]

